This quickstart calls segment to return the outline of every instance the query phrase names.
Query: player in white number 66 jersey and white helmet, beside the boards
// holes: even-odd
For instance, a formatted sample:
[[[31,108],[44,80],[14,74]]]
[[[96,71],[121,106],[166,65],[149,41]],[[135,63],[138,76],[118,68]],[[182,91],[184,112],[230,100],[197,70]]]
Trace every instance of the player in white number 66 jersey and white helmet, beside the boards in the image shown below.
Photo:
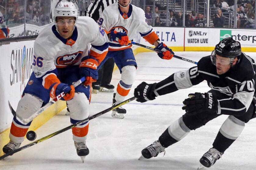
[[[75,124],[89,117],[91,83],[98,78],[97,66],[108,52],[108,37],[90,17],[78,19],[72,2],[59,2],[54,20],[55,23],[48,25],[34,42],[34,72],[16,114],[28,118],[48,103],[50,97],[65,92],[63,100],[70,110],[70,122]],[[81,77],[86,80],[75,89],[72,83]],[[30,124],[13,119],[10,142],[3,147],[5,153],[20,147]],[[82,161],[89,154],[85,143],[88,127],[89,122],[85,122],[72,128],[77,155]]]

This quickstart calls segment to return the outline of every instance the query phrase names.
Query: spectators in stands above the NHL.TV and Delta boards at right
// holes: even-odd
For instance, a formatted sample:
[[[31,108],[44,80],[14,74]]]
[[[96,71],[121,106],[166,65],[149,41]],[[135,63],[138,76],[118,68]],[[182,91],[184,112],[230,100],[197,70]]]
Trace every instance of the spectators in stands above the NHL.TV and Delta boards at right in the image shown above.
[[[169,20],[166,17],[166,6],[161,6],[156,3],[155,11],[151,8],[152,2],[145,7],[145,16],[149,25],[153,26],[183,26],[183,15],[181,11],[173,12],[169,10]],[[237,28],[255,28],[255,0],[238,0],[237,3]],[[210,8],[212,12],[210,27],[225,27],[225,21],[228,17],[223,13],[230,13],[234,15],[234,1],[233,0],[211,0]],[[154,15],[154,16],[153,16]],[[153,20],[155,20],[153,24]],[[186,27],[206,27],[206,16],[203,13],[196,13],[194,10],[185,15]],[[227,27],[227,26],[226,26]]]

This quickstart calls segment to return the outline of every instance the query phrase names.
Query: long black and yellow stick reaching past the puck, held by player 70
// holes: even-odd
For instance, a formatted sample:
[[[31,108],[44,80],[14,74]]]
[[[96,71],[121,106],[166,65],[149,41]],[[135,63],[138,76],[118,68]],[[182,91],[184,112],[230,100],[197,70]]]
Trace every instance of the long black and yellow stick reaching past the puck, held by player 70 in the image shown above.
[[[130,101],[133,101],[133,100],[135,100],[135,99],[137,99],[137,98],[136,98],[136,97],[131,97],[130,99],[127,99],[127,100],[125,100],[125,101],[123,101],[123,102],[121,102],[121,103],[119,103],[119,104],[116,104],[116,105],[114,105],[114,106],[112,106],[112,107],[109,107],[108,109],[105,109],[105,110],[103,110],[103,111],[101,111],[101,112],[99,112],[99,113],[97,113],[97,114],[94,114],[94,115],[88,117],[87,119],[81,120],[81,121],[77,122],[76,124],[72,124],[72,125],[70,125],[70,126],[68,126],[68,127],[65,127],[65,128],[63,128],[63,129],[59,130],[59,131],[56,131],[56,132],[54,132],[54,133],[52,133],[52,134],[49,134],[49,135],[47,135],[47,136],[45,136],[45,137],[43,137],[43,138],[41,138],[41,139],[38,139],[37,141],[31,142],[31,143],[29,143],[29,144],[27,144],[27,145],[24,145],[23,147],[20,147],[20,148],[14,150],[14,151],[8,152],[7,154],[0,156],[0,160],[2,160],[3,158],[5,158],[5,157],[7,157],[7,156],[9,156],[9,155],[12,155],[12,154],[18,152],[18,151],[21,151],[21,150],[23,150],[23,149],[29,148],[30,146],[33,146],[33,145],[38,144],[38,143],[40,143],[40,142],[42,142],[42,141],[45,141],[45,140],[47,140],[47,139],[49,139],[49,138],[52,138],[53,136],[56,136],[57,134],[60,134],[60,133],[62,133],[62,132],[65,132],[65,131],[67,131],[67,130],[73,128],[73,127],[76,127],[76,126],[78,126],[78,125],[80,125],[80,124],[83,124],[83,123],[85,123],[85,122],[87,122],[87,121],[89,121],[89,120],[91,120],[91,119],[94,119],[94,118],[96,118],[96,117],[98,117],[98,116],[100,116],[100,115],[102,115],[102,114],[105,114],[105,113],[107,113],[107,112],[109,112],[109,111],[111,111],[111,110],[113,110],[113,109],[115,109],[115,108],[117,108],[117,107],[120,107],[120,106],[122,106],[122,105],[124,105],[124,104],[127,104],[127,103],[129,103]]]

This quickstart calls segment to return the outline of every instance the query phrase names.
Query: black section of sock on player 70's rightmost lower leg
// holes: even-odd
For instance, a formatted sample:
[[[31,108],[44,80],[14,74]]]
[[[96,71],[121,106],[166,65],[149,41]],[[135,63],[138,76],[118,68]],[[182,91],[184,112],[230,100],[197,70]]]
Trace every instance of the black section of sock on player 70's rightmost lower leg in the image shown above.
[[[223,136],[220,132],[217,134],[212,146],[220,152],[225,152],[227,148],[234,142],[234,139],[229,139]]]

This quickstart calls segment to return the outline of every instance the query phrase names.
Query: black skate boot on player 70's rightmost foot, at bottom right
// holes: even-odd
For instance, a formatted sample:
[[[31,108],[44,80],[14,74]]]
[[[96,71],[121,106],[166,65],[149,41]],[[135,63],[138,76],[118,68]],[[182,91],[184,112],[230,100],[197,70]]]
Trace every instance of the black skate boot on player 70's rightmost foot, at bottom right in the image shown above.
[[[210,148],[209,151],[207,151],[202,158],[200,159],[200,163],[204,165],[205,167],[209,168],[211,167],[221,156],[223,155],[223,152],[219,152],[215,148]]]

